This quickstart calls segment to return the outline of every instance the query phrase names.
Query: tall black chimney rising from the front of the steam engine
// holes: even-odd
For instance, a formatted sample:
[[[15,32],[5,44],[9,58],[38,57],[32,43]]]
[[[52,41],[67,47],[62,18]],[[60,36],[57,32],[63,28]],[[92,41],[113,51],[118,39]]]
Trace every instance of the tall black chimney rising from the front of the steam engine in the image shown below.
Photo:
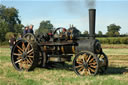
[[[89,37],[95,39],[96,9],[89,9]]]

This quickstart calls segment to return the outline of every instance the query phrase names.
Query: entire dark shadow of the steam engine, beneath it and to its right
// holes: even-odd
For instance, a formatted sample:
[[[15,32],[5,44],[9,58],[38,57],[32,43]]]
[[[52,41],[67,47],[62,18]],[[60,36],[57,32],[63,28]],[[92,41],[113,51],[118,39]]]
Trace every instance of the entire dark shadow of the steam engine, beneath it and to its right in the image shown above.
[[[41,67],[39,67],[41,68]],[[49,63],[45,69],[48,70],[67,70],[67,71],[73,71],[72,64],[67,63]],[[101,75],[114,75],[114,74],[128,74],[128,67],[108,67],[107,71]]]

